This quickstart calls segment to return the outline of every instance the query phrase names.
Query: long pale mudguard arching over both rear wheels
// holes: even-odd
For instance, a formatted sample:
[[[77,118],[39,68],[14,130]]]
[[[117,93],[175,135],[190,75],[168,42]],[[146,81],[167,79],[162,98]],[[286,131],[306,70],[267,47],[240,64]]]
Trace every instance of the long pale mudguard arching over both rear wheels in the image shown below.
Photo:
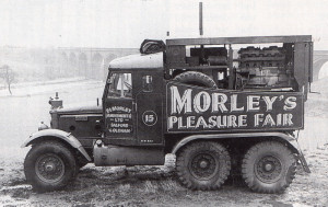
[[[306,160],[303,156],[303,152],[298,146],[297,139],[289,136],[283,133],[238,133],[238,134],[215,134],[215,135],[191,135],[188,137],[185,137],[180,141],[178,141],[175,147],[172,150],[173,154],[176,154],[179,149],[181,149],[184,146],[186,146],[188,142],[194,140],[206,140],[206,139],[229,139],[229,138],[247,138],[247,137],[276,137],[279,139],[282,139],[284,142],[289,145],[289,147],[292,149],[294,153],[297,153],[297,157],[301,161],[301,164],[305,172],[311,173],[309,168],[306,163]]]

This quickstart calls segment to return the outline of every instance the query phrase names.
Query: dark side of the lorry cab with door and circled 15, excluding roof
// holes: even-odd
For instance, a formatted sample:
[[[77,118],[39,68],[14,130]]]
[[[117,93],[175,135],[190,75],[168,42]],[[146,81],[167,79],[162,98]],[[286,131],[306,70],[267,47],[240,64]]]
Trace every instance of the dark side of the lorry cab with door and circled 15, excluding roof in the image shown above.
[[[161,68],[110,70],[103,96],[106,143],[163,146],[162,74]]]

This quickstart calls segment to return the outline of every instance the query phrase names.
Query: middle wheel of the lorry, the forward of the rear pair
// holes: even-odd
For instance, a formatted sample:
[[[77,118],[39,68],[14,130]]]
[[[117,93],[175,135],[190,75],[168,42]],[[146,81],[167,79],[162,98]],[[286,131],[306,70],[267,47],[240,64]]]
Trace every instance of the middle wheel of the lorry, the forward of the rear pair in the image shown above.
[[[177,156],[179,181],[191,189],[216,189],[227,179],[231,159],[226,149],[213,141],[194,142]]]

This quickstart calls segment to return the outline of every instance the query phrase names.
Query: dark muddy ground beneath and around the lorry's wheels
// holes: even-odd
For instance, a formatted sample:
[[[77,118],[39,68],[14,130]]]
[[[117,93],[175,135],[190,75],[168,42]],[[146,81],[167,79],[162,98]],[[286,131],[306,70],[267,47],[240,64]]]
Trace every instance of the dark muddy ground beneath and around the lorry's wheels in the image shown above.
[[[311,174],[297,169],[294,182],[280,195],[250,192],[237,177],[220,191],[197,192],[180,186],[174,157],[164,166],[95,168],[89,164],[59,192],[38,194],[26,184],[23,158],[1,158],[0,206],[328,206],[328,149],[306,152]]]

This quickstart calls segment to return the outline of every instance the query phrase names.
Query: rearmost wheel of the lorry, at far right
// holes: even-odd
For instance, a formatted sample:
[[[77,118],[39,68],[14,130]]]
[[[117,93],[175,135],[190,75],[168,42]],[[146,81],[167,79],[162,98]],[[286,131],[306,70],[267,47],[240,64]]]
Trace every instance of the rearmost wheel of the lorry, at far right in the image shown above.
[[[291,150],[277,141],[253,146],[243,159],[242,174],[248,187],[259,193],[282,193],[295,177]]]

